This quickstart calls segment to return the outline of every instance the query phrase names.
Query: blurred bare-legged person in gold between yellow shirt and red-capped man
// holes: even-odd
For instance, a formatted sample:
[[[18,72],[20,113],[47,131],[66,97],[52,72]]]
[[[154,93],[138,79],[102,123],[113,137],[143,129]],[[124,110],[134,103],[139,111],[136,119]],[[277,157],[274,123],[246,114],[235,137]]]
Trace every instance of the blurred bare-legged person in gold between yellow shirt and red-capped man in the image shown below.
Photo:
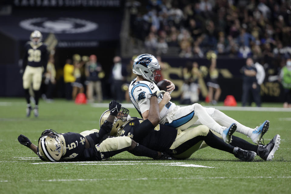
[[[77,94],[84,93],[84,87],[82,84],[82,74],[81,74],[81,68],[82,68],[82,62],[81,62],[81,56],[79,54],[73,55],[73,64],[74,64],[74,77],[75,82],[72,83],[73,91],[72,91],[72,98],[75,100]]]

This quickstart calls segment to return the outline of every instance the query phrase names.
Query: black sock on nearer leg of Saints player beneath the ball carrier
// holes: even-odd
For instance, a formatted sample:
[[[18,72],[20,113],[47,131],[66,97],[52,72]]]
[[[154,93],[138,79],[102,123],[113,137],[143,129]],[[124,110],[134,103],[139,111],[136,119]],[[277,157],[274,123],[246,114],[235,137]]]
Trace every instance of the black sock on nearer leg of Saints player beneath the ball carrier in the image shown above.
[[[233,153],[234,146],[225,143],[221,138],[214,135],[210,130],[204,138],[205,143],[215,149]]]

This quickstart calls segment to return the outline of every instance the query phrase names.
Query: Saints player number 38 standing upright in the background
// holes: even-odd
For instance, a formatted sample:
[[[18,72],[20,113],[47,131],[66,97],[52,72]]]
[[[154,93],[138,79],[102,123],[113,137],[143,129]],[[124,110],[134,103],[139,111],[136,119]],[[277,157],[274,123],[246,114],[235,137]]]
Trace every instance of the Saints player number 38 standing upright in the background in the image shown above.
[[[35,30],[30,35],[30,42],[25,45],[25,53],[23,57],[22,70],[23,88],[25,91],[25,99],[27,102],[26,116],[30,116],[32,106],[30,104],[29,86],[32,83],[32,89],[35,98],[34,115],[38,117],[38,99],[39,89],[42,83],[42,73],[46,70],[48,64],[47,46],[42,43],[42,33]]]

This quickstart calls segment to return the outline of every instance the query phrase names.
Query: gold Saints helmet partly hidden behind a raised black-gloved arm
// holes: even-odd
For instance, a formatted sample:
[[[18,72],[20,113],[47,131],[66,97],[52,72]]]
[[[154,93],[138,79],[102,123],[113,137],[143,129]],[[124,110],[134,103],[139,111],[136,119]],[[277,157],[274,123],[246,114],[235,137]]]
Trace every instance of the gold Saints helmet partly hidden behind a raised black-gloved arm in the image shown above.
[[[101,125],[103,125],[103,123],[105,122],[105,120],[109,117],[109,115],[110,115],[110,110],[106,110],[105,112],[103,112],[99,120],[100,128],[101,128]],[[124,124],[130,119],[131,119],[131,116],[129,115],[129,110],[124,107],[121,107],[119,113],[114,119],[110,136],[118,136]]]

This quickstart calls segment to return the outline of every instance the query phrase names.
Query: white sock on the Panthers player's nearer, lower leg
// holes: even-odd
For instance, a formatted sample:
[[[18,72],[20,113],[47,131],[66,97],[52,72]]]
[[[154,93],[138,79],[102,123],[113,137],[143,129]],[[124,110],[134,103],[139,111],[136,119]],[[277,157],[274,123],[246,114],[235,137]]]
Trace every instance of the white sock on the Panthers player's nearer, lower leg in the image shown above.
[[[219,133],[220,135],[222,135],[223,130],[226,129],[226,127],[223,127],[215,122],[215,120],[211,118],[204,107],[200,104],[195,104],[194,114],[198,116],[198,119],[202,125],[206,125],[209,129]]]

